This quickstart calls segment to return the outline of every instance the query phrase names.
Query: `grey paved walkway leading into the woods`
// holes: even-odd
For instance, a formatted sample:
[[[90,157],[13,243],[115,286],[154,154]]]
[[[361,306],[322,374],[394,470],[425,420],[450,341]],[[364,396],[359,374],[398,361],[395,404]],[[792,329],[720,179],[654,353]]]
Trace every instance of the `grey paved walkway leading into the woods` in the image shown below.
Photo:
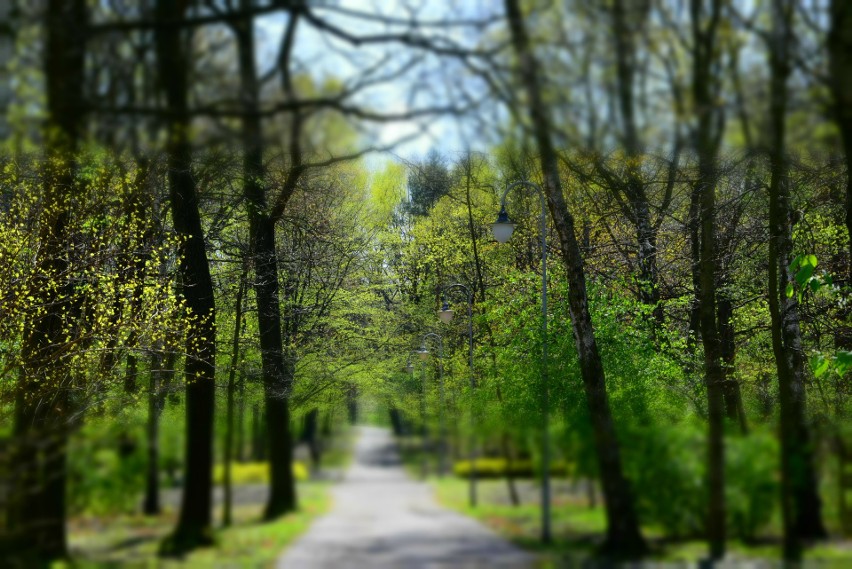
[[[278,560],[278,569],[528,569],[531,555],[439,506],[408,478],[390,433],[359,428],[355,457],[331,512]]]

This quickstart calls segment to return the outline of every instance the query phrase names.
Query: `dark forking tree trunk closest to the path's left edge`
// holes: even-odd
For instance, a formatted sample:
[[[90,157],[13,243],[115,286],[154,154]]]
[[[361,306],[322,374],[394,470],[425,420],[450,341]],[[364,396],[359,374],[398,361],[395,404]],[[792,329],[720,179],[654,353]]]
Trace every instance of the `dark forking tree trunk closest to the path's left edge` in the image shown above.
[[[248,0],[240,3],[248,9]],[[265,519],[274,519],[296,509],[296,482],[293,478],[292,434],[289,398],[293,386],[282,349],[281,305],[278,294],[278,258],[275,251],[275,221],[267,211],[263,186],[263,140],[257,114],[259,86],[254,61],[252,19],[234,25],[239,57],[243,99],[243,192],[249,208],[249,232],[254,264],[254,291],[260,334],[261,371],[266,404],[267,442],[270,460],[269,501]]]

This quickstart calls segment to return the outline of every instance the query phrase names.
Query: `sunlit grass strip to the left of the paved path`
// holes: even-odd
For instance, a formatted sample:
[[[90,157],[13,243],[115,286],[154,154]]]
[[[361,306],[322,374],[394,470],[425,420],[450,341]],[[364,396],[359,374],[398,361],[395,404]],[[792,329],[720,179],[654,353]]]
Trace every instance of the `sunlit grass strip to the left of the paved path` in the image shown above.
[[[328,510],[327,482],[300,482],[299,511],[272,522],[261,522],[262,504],[234,508],[234,523],[215,530],[215,545],[193,551],[181,559],[158,559],[162,539],[174,528],[177,514],[157,517],[115,516],[72,520],[69,545],[72,562],[59,568],[88,567],[271,567],[287,545]],[[221,520],[216,509],[214,520]]]

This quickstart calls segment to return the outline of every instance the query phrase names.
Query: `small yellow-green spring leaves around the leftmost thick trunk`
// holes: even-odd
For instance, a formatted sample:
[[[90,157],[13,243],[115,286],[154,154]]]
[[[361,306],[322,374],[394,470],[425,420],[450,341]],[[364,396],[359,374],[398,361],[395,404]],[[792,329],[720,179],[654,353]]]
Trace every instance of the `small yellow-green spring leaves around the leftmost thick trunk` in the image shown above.
[[[141,195],[140,169],[90,152],[78,157],[73,191],[58,191],[57,168],[35,156],[7,159],[0,174],[0,391],[24,370],[38,399],[72,386],[85,408],[109,393],[120,354],[171,348],[185,326],[173,277],[178,242]],[[162,172],[147,172],[157,176]],[[66,188],[67,190],[67,188]],[[140,209],[141,201],[145,210]],[[61,233],[57,233],[61,232]],[[57,235],[61,241],[57,242]],[[156,236],[156,237],[155,237]],[[38,351],[22,358],[35,322],[52,319]],[[57,366],[54,364],[61,363]],[[26,366],[23,368],[22,366]],[[55,370],[55,371],[50,371]],[[8,400],[8,399],[7,399]]]

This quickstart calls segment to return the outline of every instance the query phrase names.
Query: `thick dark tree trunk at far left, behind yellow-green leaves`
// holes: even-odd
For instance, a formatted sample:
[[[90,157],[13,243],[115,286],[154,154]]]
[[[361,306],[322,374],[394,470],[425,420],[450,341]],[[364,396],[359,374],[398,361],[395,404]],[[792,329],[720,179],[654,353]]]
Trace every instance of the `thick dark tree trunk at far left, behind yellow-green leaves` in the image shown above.
[[[74,192],[75,154],[84,126],[86,2],[50,0],[45,15],[47,156],[36,274],[50,283],[57,276],[68,278],[67,198]],[[73,380],[60,354],[78,310],[67,282],[33,287],[29,295],[44,312],[27,322],[23,332],[13,426],[16,503],[8,521],[11,532],[19,537],[12,556],[30,556],[33,564],[49,564],[67,554],[66,452]]]

